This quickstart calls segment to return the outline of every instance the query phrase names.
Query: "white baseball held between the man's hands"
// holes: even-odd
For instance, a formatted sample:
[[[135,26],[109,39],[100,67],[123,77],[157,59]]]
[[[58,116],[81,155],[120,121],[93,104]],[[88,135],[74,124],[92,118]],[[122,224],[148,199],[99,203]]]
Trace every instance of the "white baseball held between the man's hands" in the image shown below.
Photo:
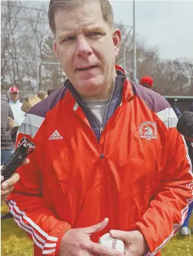
[[[113,249],[124,253],[125,251],[125,245],[124,242],[120,239],[115,239],[111,237],[109,233],[104,234],[100,239],[99,239],[99,244],[106,245],[107,247],[112,247]]]

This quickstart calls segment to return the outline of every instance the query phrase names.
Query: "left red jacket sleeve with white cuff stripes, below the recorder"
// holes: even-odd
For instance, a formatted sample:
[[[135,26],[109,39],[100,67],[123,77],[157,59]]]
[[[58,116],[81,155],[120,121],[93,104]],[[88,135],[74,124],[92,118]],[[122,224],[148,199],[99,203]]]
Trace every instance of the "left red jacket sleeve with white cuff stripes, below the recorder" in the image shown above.
[[[42,159],[41,143],[22,133],[17,136],[17,142],[24,136],[33,141],[36,148],[29,155],[30,164],[17,169],[20,180],[9,197],[9,211],[18,226],[27,232],[40,252],[42,251],[42,255],[58,255],[60,240],[71,226],[65,221],[60,221],[45,204],[42,198],[42,177],[39,169]]]

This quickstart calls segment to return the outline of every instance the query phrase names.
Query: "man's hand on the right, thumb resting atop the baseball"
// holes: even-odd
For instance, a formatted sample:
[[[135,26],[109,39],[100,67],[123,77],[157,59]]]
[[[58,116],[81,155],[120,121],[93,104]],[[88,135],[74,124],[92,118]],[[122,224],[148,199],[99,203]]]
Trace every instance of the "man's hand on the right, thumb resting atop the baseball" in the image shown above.
[[[143,256],[148,251],[148,244],[140,231],[110,230],[113,238],[122,240],[125,243],[124,255]]]

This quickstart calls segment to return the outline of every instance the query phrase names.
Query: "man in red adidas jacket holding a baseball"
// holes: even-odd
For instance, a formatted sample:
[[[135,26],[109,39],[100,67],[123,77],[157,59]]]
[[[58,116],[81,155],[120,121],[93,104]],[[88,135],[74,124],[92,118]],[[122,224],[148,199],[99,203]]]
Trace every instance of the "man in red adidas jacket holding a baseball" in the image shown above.
[[[121,32],[101,1],[50,1],[68,79],[19,128],[35,144],[9,198],[39,255],[158,255],[192,201],[192,167],[169,103],[115,69]],[[103,221],[102,221],[103,220]]]

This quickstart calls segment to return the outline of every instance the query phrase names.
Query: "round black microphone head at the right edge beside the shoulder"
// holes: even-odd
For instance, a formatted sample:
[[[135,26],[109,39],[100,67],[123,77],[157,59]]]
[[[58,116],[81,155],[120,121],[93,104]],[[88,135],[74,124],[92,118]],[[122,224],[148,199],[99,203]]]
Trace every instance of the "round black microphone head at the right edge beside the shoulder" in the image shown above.
[[[193,112],[184,112],[176,125],[177,130],[189,141],[193,141]]]

